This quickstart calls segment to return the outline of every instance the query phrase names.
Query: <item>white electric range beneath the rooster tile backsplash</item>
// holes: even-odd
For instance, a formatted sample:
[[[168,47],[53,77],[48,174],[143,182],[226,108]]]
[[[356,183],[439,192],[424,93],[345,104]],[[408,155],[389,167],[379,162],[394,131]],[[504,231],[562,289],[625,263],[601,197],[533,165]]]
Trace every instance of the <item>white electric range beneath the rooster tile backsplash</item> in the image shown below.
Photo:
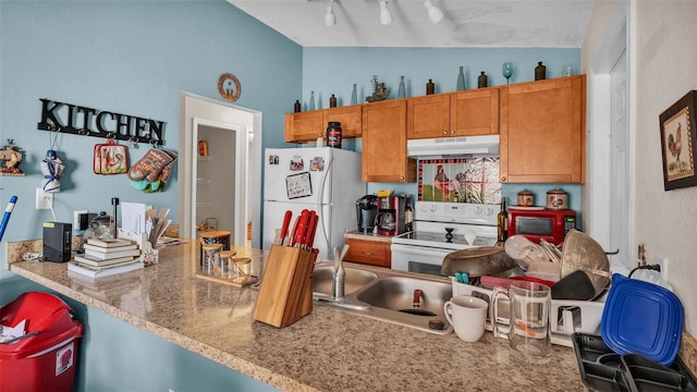
[[[499,205],[416,201],[414,231],[392,238],[392,269],[440,275],[448,254],[497,243],[499,210]],[[466,233],[476,235],[473,244]]]

